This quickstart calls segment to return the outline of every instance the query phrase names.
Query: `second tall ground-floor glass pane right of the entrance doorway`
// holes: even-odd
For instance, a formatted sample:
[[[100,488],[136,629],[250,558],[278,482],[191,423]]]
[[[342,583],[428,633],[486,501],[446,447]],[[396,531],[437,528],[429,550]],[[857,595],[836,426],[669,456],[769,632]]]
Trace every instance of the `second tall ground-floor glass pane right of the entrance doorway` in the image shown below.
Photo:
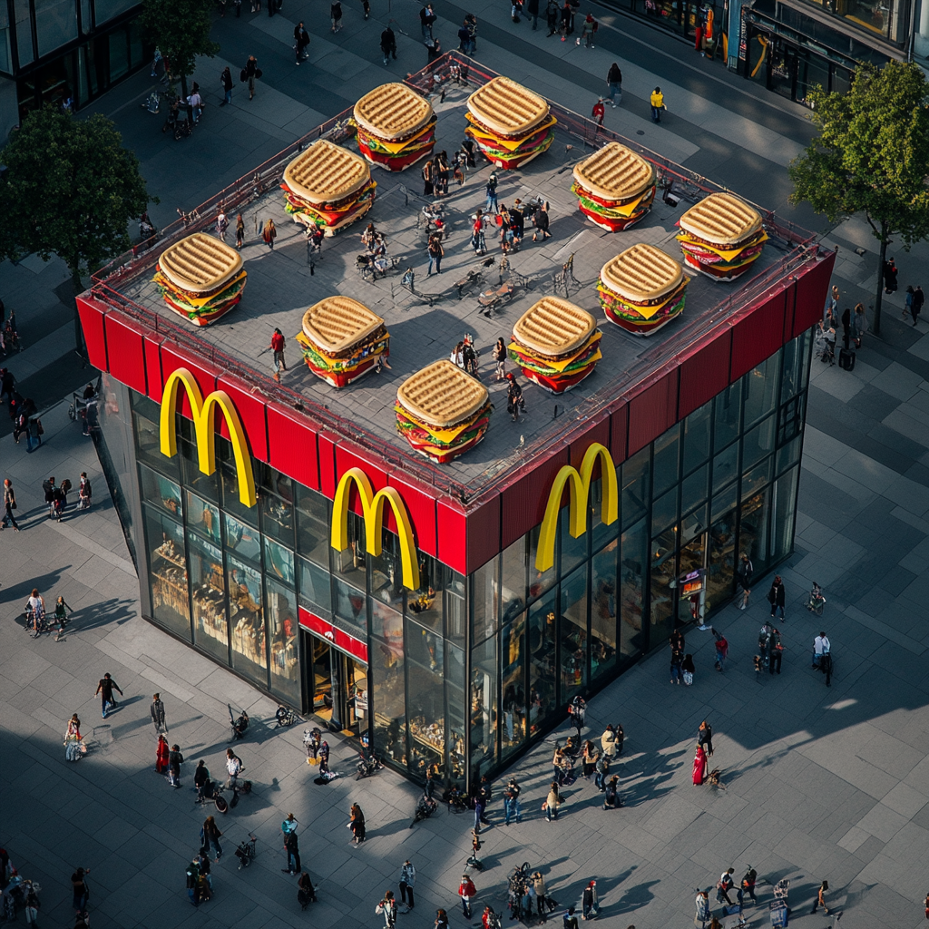
[[[410,773],[425,780],[428,767],[445,768],[444,643],[441,635],[407,620],[407,715]]]

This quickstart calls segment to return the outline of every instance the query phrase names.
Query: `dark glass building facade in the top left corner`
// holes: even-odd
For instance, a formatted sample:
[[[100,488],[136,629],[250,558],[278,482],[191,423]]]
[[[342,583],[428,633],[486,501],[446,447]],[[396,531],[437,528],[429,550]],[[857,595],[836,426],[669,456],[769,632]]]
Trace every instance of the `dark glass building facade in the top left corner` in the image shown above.
[[[0,144],[46,103],[80,109],[151,63],[137,0],[0,0]]]

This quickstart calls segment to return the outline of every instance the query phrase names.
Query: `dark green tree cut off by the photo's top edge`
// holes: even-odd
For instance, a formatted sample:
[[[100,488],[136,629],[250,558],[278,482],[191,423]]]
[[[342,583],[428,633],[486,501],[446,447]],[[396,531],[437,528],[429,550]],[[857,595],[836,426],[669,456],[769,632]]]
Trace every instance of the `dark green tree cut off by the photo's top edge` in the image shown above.
[[[219,46],[210,40],[213,0],[145,0],[142,28],[161,50],[165,71],[180,79],[181,97],[187,99],[187,79],[197,67],[197,56],[214,58]],[[188,106],[188,118],[193,113]]]

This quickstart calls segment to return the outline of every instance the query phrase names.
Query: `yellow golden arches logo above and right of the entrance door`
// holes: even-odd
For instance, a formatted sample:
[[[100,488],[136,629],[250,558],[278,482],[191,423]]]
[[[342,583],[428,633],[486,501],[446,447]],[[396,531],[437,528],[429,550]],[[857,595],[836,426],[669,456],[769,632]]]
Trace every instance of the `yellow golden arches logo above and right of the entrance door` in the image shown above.
[[[384,527],[384,504],[390,504],[397,520],[400,541],[400,566],[403,586],[419,590],[419,561],[416,559],[416,544],[412,538],[410,514],[398,491],[385,487],[374,493],[371,481],[359,467],[350,467],[339,479],[333,501],[333,526],[331,541],[336,552],[348,547],[348,492],[352,483],[358,488],[361,511],[364,514],[364,532],[367,550],[374,557],[381,554],[381,530]]]

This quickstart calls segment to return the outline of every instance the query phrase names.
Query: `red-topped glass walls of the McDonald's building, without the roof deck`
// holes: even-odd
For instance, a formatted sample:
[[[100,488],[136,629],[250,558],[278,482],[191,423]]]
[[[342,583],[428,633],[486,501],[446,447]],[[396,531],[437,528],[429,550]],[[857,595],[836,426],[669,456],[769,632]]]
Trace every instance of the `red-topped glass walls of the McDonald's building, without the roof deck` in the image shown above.
[[[761,575],[792,552],[833,261],[806,253],[470,497],[182,321],[86,292],[143,615],[413,779],[502,770],[576,694],[725,608],[739,553]]]

